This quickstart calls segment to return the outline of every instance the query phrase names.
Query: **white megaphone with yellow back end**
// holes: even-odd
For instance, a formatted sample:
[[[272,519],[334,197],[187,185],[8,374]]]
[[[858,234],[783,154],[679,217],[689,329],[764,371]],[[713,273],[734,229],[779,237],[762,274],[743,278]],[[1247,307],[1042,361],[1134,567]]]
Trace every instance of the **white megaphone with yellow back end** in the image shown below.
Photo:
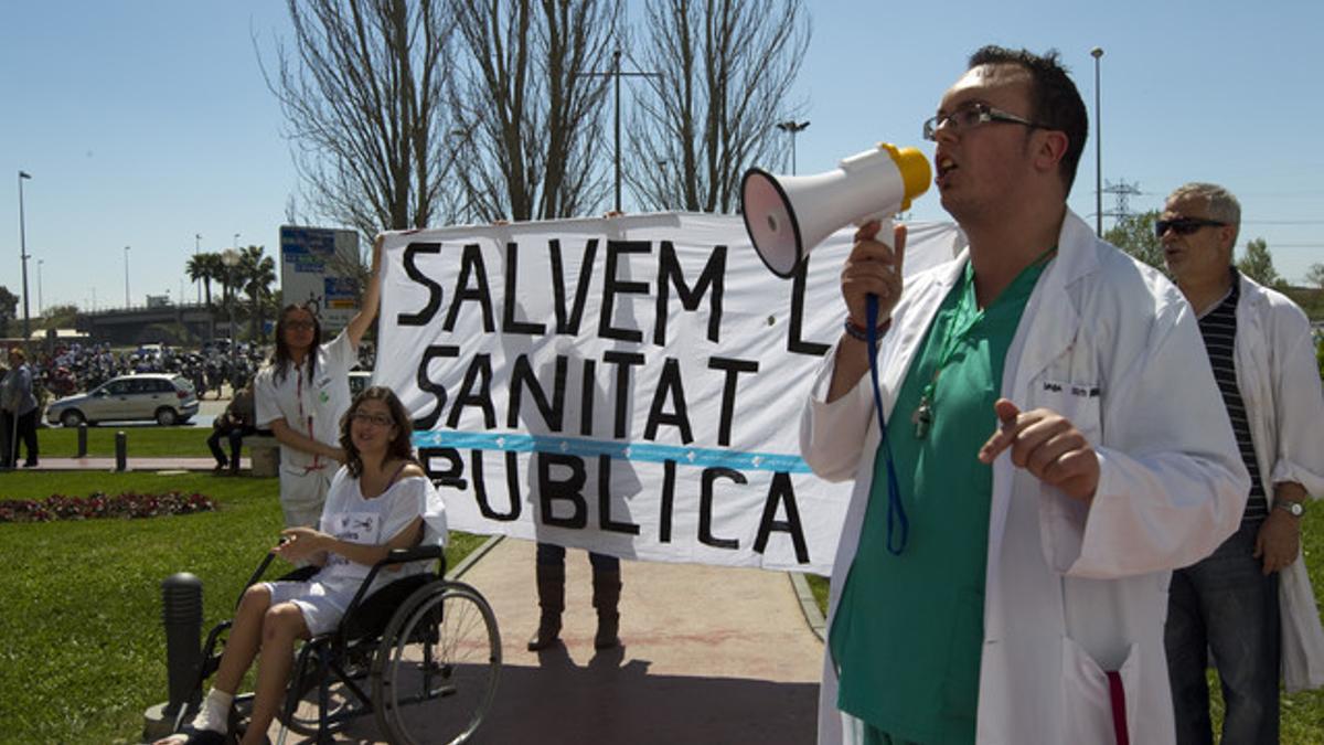
[[[785,280],[833,232],[908,209],[932,178],[923,152],[880,142],[826,174],[775,176],[749,168],[740,211],[759,258]]]

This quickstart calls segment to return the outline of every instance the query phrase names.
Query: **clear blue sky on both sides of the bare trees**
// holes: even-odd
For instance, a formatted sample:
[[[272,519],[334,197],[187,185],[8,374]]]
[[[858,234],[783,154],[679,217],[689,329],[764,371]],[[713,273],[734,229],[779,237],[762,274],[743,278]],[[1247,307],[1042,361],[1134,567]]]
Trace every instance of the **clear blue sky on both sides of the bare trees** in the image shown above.
[[[797,87],[812,123],[797,139],[801,174],[876,141],[931,152],[920,122],[985,42],[1058,48],[1092,119],[1090,49],[1102,46],[1103,175],[1139,184],[1132,209],[1160,207],[1188,180],[1218,182],[1242,200],[1238,251],[1264,237],[1294,281],[1324,261],[1315,56],[1324,4],[957,0],[940,15],[865,0],[809,7],[813,41]],[[287,28],[277,0],[8,3],[0,285],[21,290],[20,170],[33,175],[24,182],[33,314],[38,258],[46,306],[90,308],[95,296],[107,308],[124,302],[126,245],[134,304],[147,293],[196,297],[184,276],[195,235],[203,251],[228,248],[240,233],[241,245],[274,255],[298,182],[253,37],[269,56]],[[1092,137],[1071,199],[1091,223]],[[914,216],[947,217],[932,192]]]

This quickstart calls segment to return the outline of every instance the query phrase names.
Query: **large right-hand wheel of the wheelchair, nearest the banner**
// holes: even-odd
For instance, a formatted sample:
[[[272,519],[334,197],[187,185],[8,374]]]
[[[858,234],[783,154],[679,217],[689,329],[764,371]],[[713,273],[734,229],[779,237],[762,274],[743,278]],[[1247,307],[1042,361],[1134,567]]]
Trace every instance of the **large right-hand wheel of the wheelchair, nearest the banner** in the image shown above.
[[[372,664],[372,701],[387,740],[465,742],[500,675],[491,606],[473,587],[433,582],[392,616]]]

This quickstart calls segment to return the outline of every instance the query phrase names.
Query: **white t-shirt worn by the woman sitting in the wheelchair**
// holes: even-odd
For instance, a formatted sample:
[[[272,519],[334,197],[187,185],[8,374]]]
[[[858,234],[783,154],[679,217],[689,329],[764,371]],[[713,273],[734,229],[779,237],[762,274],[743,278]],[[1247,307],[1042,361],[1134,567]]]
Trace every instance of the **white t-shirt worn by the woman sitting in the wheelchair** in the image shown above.
[[[422,476],[400,479],[385,492],[368,500],[363,497],[359,480],[350,476],[350,469],[342,467],[331,480],[327,504],[322,510],[318,529],[340,541],[380,546],[395,538],[409,522],[422,516],[424,536],[420,545],[444,546],[446,544],[446,510],[441,494],[432,481]],[[405,565],[399,573],[379,574],[373,579],[375,591],[379,585],[399,579],[406,574],[426,571],[430,562]],[[331,551],[327,562],[315,577],[330,587],[348,586],[357,589],[372,567],[354,563],[343,555]]]

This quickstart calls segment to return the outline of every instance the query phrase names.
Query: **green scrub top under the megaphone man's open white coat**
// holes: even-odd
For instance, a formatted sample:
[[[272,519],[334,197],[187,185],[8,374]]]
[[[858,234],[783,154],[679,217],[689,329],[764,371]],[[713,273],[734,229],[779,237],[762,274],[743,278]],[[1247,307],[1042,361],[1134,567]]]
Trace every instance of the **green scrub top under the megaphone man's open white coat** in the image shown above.
[[[900,555],[888,553],[887,459],[879,451],[829,635],[837,705],[874,734],[974,742],[993,492],[992,468],[977,453],[998,426],[993,403],[1006,350],[1045,266],[1043,258],[1031,264],[980,312],[967,264],[898,392],[887,437],[910,538]],[[932,422],[920,436],[912,416],[925,394]]]

